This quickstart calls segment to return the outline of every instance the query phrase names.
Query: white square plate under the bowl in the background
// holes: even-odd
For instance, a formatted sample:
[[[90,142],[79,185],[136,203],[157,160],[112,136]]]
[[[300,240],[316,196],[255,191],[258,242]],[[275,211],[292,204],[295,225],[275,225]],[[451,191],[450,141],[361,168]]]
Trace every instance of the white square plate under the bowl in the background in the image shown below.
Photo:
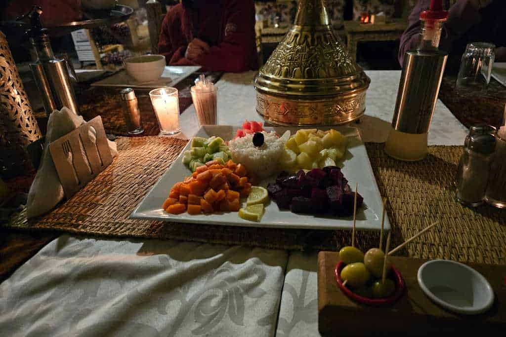
[[[163,86],[176,86],[176,84],[199,69],[200,66],[165,66],[161,77],[153,82],[138,82],[122,70],[91,85],[156,89]]]

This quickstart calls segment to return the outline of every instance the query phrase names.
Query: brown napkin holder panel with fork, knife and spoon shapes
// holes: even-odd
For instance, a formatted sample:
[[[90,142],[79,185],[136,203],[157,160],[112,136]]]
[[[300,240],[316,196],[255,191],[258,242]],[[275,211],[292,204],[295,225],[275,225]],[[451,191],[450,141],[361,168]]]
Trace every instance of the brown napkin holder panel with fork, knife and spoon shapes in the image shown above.
[[[49,152],[67,199],[112,163],[100,116],[50,143]]]

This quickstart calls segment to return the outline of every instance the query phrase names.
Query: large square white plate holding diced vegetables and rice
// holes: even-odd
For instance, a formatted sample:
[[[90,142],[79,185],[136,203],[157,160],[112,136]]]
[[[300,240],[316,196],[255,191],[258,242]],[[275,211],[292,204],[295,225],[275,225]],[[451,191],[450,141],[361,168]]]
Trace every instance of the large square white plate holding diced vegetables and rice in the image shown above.
[[[210,137],[220,136],[225,140],[232,139],[238,127],[221,125],[204,125],[197,132],[197,136]],[[292,133],[299,128],[266,128],[275,130],[282,134],[286,130]],[[325,129],[325,128],[322,128]],[[328,129],[328,128],[327,128]],[[345,177],[350,181],[350,186],[355,189],[355,182],[358,181],[358,190],[364,197],[364,206],[357,210],[357,228],[379,229],[381,227],[382,199],[372,173],[369,158],[365,146],[358,137],[357,129],[350,127],[336,127],[349,137],[349,149],[347,159],[342,168]],[[191,144],[184,148],[190,148]],[[218,225],[248,226],[248,227],[279,227],[279,228],[307,228],[307,229],[350,229],[353,226],[352,217],[338,218],[333,216],[314,216],[295,214],[289,211],[280,211],[275,202],[271,201],[266,205],[264,216],[260,222],[247,221],[239,218],[237,212],[219,213],[210,215],[190,215],[183,213],[173,215],[166,213],[161,205],[167,198],[171,187],[178,181],[182,181],[191,171],[185,167],[180,155],[172,166],[161,176],[148,195],[142,200],[139,206],[131,214],[131,218],[145,220],[162,220],[174,222],[191,222]],[[264,179],[262,186],[275,180],[275,176]],[[390,229],[388,217],[385,219],[385,229]]]

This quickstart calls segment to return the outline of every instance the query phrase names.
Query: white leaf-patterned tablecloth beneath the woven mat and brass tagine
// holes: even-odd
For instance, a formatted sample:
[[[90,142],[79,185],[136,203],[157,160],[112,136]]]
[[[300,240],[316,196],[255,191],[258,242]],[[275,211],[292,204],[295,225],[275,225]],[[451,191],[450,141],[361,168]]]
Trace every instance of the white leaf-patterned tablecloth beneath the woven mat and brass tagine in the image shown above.
[[[400,71],[367,71],[364,141],[385,141]],[[219,122],[259,120],[254,73],[218,82]],[[197,130],[193,107],[182,135]],[[429,142],[467,133],[438,102]],[[316,253],[159,240],[62,235],[0,284],[0,336],[311,336],[317,323]]]

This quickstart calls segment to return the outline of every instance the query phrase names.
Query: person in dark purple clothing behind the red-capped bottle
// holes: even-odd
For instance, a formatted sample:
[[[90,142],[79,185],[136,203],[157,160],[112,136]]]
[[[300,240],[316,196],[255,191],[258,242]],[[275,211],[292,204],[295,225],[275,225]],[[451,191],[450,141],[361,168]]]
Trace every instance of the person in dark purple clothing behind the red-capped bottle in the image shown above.
[[[443,24],[439,49],[449,53],[446,69],[456,73],[460,57],[470,42],[495,44],[496,62],[506,61],[506,1],[457,0],[448,10],[448,21]],[[419,0],[409,16],[409,26],[402,34],[399,62],[404,54],[415,49],[420,41],[420,12],[429,8],[430,0]]]

